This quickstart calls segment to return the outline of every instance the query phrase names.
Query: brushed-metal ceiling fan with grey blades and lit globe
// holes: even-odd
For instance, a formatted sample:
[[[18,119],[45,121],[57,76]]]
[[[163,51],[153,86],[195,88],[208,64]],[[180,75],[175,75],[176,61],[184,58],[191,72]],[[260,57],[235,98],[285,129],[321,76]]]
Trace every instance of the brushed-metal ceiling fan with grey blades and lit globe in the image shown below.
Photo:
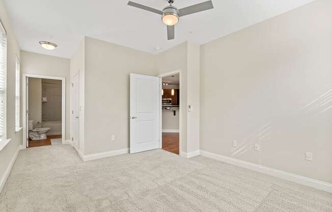
[[[147,10],[153,13],[157,13],[161,15],[162,22],[167,25],[167,37],[168,40],[174,39],[174,25],[179,22],[179,18],[181,16],[189,15],[192,13],[201,12],[204,10],[213,9],[212,1],[203,2],[196,5],[191,5],[189,7],[185,7],[182,9],[177,9],[172,4],[174,3],[173,0],[169,0],[169,6],[165,7],[163,10],[157,10],[145,5],[137,4],[134,2],[128,2],[129,6],[140,8],[143,10]]]

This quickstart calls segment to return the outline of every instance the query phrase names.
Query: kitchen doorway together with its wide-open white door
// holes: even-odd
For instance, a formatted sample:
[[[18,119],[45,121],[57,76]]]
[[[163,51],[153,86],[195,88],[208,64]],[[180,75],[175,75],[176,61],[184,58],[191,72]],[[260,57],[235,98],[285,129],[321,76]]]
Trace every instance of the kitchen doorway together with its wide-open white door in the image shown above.
[[[130,74],[130,153],[157,148],[181,152],[180,82],[180,70],[157,77]]]

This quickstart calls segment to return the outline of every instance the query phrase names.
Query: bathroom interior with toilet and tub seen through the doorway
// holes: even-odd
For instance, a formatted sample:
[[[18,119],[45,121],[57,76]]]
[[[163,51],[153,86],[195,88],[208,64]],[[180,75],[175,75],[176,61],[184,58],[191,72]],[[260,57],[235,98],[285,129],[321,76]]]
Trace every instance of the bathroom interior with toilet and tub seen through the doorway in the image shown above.
[[[62,144],[62,81],[28,78],[29,147]]]

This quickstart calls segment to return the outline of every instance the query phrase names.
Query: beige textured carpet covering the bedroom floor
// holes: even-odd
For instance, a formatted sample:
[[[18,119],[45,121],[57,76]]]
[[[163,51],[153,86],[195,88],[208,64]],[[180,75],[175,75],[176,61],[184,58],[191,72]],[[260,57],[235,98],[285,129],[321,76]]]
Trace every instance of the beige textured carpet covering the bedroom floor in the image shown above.
[[[0,211],[332,211],[332,194],[163,150],[82,163],[69,145],[20,152]]]

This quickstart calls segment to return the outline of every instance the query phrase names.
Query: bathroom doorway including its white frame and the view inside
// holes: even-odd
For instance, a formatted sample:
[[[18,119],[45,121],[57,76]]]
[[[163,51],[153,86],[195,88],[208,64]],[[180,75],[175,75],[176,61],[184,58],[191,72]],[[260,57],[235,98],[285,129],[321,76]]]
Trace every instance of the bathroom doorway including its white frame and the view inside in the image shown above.
[[[65,78],[23,73],[23,147],[65,142]]]

